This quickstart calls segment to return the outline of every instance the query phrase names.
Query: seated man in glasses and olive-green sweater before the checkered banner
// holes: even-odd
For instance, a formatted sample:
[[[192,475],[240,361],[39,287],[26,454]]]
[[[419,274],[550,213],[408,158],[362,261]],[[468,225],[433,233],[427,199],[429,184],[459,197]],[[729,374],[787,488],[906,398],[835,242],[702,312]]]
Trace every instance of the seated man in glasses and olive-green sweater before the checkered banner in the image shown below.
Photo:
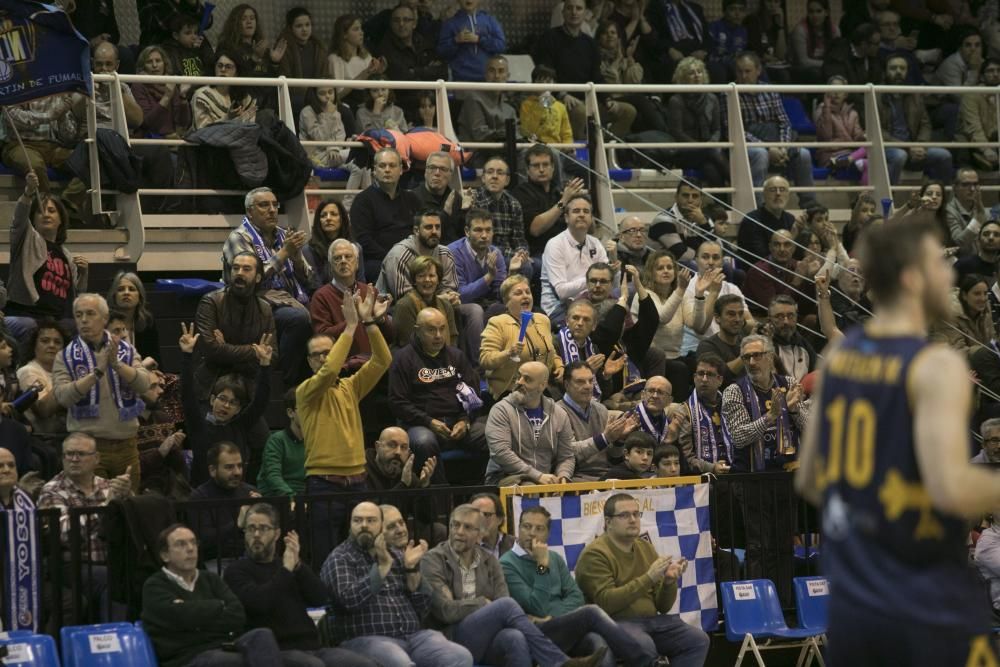
[[[708,635],[668,613],[687,560],[660,556],[641,533],[639,501],[627,493],[608,498],[604,534],[584,547],[576,583],[587,602],[606,611],[643,648],[668,657],[671,667],[703,665]]]

